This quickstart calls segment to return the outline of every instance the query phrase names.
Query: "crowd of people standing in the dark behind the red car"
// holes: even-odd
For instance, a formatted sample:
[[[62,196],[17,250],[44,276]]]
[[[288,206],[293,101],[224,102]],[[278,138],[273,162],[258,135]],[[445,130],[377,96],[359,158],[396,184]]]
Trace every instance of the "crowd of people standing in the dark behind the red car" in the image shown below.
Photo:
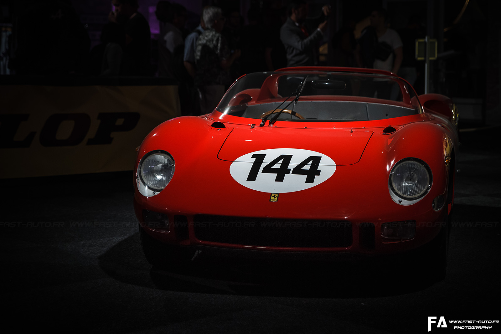
[[[292,0],[287,7],[282,7],[282,2],[273,2],[280,6],[272,5],[266,11],[251,7],[245,25],[238,8],[206,6],[201,9],[200,24],[191,31],[186,28],[186,8],[160,0],[155,11],[160,33],[157,40],[151,40],[148,21],[138,11],[138,0],[112,0],[112,4],[114,10],[102,29],[101,43],[90,50],[86,65],[77,67],[75,60],[61,71],[52,70],[53,73],[171,78],[179,84],[182,114],[209,112],[242,74],[318,65],[321,42],[331,43],[334,64],[329,65],[392,71],[411,84],[418,76],[414,40],[424,34],[417,17],[404,30],[396,32],[389,27],[386,11],[376,9],[358,40],[354,35],[355,20],[347,19],[327,41],[331,7],[323,6],[320,13],[310,13],[306,0]],[[36,13],[33,17],[37,17]],[[78,53],[82,58],[84,51],[78,49],[77,42],[89,46],[90,41],[84,36],[85,30],[76,28],[76,34],[79,40],[69,45],[74,50],[68,53]],[[82,63],[80,58],[78,61]],[[67,57],[65,61],[71,59]],[[30,72],[30,68],[33,67],[18,73],[40,71],[37,68]],[[377,94],[389,97],[392,92]]]

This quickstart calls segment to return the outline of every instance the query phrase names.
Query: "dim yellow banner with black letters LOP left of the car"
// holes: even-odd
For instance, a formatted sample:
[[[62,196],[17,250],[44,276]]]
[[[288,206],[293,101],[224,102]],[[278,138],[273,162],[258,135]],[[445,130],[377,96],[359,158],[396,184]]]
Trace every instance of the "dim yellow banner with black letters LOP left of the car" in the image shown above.
[[[132,170],[177,86],[0,86],[0,178]]]

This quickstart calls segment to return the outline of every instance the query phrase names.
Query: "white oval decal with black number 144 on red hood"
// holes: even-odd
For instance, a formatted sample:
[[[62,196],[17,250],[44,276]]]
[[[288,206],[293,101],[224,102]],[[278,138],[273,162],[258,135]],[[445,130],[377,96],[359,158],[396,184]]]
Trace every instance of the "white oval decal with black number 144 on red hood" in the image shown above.
[[[229,167],[233,179],[247,188],[284,193],[305,190],[334,174],[336,164],[325,154],[278,148],[247,153]]]

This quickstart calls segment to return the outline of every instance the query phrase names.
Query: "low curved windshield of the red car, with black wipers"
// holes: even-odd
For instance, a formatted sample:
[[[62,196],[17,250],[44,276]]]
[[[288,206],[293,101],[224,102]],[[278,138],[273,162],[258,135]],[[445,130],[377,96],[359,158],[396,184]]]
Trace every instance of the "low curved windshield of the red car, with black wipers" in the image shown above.
[[[300,89],[300,97],[289,104]],[[288,102],[282,104],[286,99]],[[368,121],[421,112],[414,90],[396,77],[314,71],[248,74],[235,82],[216,110],[246,118],[265,119],[280,113],[281,121],[324,122]]]

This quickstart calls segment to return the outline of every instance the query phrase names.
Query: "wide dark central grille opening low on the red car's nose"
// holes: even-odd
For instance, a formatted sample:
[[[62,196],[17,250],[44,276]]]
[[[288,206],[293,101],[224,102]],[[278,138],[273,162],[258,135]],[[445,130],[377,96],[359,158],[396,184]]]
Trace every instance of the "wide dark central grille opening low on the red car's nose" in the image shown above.
[[[346,221],[195,215],[195,237],[203,241],[270,247],[349,247]]]

